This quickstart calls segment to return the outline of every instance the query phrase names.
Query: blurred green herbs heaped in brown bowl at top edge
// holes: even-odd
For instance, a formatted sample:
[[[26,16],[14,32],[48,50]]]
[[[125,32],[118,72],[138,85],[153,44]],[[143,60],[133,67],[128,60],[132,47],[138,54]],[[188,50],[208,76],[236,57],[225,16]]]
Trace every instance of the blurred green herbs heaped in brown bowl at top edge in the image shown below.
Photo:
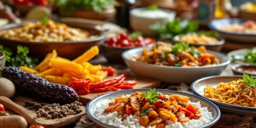
[[[75,11],[76,9],[93,9],[96,12],[102,12],[102,9],[106,9],[109,6],[115,5],[115,0],[49,0],[56,4],[63,10],[70,9]]]

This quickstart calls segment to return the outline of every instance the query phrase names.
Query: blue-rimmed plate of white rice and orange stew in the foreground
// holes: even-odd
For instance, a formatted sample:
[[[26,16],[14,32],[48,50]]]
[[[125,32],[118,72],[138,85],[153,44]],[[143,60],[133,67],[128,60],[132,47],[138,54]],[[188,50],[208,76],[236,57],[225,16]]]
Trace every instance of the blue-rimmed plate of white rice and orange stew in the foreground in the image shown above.
[[[205,98],[163,89],[152,93],[153,90],[123,90],[96,97],[87,104],[86,113],[104,128],[208,128],[220,118],[217,106]],[[145,98],[148,94],[157,95],[154,103]],[[139,104],[138,109],[134,109],[134,102]]]

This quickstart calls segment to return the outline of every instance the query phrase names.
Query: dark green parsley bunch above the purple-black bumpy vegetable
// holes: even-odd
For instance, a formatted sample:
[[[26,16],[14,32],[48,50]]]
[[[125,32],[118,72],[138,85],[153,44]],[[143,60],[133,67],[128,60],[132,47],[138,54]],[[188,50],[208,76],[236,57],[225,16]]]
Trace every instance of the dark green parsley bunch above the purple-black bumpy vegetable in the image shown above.
[[[37,63],[37,58],[28,57],[29,49],[26,46],[17,46],[17,53],[14,55],[11,49],[7,47],[3,47],[0,45],[0,51],[5,54],[5,66],[28,66],[29,68],[33,68]]]

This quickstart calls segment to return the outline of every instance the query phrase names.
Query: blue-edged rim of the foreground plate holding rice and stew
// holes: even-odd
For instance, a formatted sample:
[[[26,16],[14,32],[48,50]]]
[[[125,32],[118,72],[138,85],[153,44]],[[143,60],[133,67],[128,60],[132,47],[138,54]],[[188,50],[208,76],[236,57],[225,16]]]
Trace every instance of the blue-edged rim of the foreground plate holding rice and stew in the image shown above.
[[[120,90],[120,91],[115,91],[115,92],[112,92],[112,93],[108,93],[108,94],[104,94],[104,95],[101,95],[101,96],[98,96],[94,99],[92,99],[90,102],[88,102],[88,104],[86,105],[86,114],[92,118],[95,122],[98,122],[102,125],[105,125],[105,126],[108,126],[108,127],[114,127],[114,126],[111,126],[111,125],[108,125],[108,124],[105,124],[105,123],[102,123],[101,121],[99,121],[99,119],[97,119],[93,113],[91,113],[89,111],[89,108],[90,106],[97,100],[100,100],[101,98],[104,98],[104,97],[108,97],[108,96],[111,96],[111,95],[114,95],[114,94],[120,94],[120,93],[127,93],[127,92],[136,92],[136,91],[149,91],[150,89],[128,89],[128,90]],[[210,123],[208,124],[205,124],[203,126],[200,126],[198,128],[203,128],[203,127],[206,127],[206,126],[210,126],[212,124],[215,124],[219,118],[221,117],[221,111],[219,110],[219,108],[217,107],[217,105],[215,105],[214,103],[212,103],[210,100],[208,100],[207,98],[203,98],[203,97],[199,97],[199,96],[196,96],[196,95],[193,95],[193,94],[188,94],[188,93],[183,93],[183,92],[180,92],[180,91],[173,91],[173,90],[166,90],[166,89],[156,89],[156,91],[161,91],[161,92],[169,92],[169,93],[177,93],[177,94],[185,94],[185,95],[189,95],[191,97],[195,97],[195,98],[198,98],[198,99],[201,99],[202,101],[204,102],[207,102],[209,103],[216,111],[216,117],[211,120]],[[114,127],[114,128],[117,128],[117,127]]]

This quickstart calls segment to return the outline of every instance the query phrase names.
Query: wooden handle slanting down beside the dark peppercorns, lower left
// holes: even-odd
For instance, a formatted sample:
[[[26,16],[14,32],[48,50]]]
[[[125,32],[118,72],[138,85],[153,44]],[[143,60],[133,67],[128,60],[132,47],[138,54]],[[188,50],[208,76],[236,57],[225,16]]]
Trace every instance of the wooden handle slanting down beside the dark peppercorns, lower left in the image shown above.
[[[4,105],[6,109],[12,110],[13,112],[23,116],[30,125],[33,125],[33,117],[28,115],[28,110],[17,103],[14,103],[11,99],[0,96],[0,103]]]

